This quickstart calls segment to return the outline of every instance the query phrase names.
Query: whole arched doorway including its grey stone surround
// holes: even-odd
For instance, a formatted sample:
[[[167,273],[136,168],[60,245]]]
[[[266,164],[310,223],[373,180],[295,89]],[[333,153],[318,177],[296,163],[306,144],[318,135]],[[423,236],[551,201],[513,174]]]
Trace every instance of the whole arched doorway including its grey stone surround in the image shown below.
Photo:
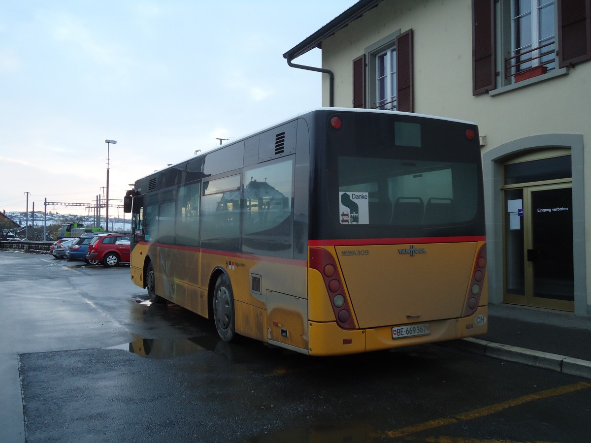
[[[582,135],[545,134],[517,139],[483,153],[486,238],[489,251],[489,302],[492,304],[511,302],[574,310],[575,314],[589,315],[587,311],[586,240],[584,236],[583,152]],[[560,157],[563,158],[559,159]],[[544,159],[550,163],[550,171],[538,167],[538,165],[544,166],[543,162],[535,163]],[[570,165],[568,165],[569,160]],[[570,167],[570,174],[563,173],[561,177],[551,175],[552,167],[557,166],[553,165],[553,162],[556,161],[563,162],[563,167],[557,168],[558,170],[564,172]],[[564,164],[567,164],[566,168]],[[511,171],[512,168],[517,168],[517,171]],[[521,171],[519,171],[520,168]],[[512,175],[515,175],[511,179],[513,181],[507,180]],[[558,210],[558,208],[566,207],[559,202],[568,200],[569,194],[571,210]],[[509,204],[511,207],[508,206]],[[542,207],[545,204],[553,207]],[[509,211],[509,209],[512,210]],[[538,209],[550,209],[550,211],[538,212]],[[557,210],[551,211],[552,209]],[[561,220],[550,220],[548,217],[536,219],[535,216],[532,216],[532,211],[535,216],[551,214],[557,217],[559,214],[565,216],[570,212],[570,232],[568,228],[561,230],[560,235],[552,235],[551,229],[549,232],[544,232],[544,227],[552,228],[553,224],[557,224],[557,226],[568,224],[567,218],[564,217]],[[519,223],[521,233],[518,229],[511,229],[511,226],[517,228],[517,223]],[[523,239],[514,238],[509,239],[509,243],[507,242],[507,237],[515,237],[517,234],[522,235]],[[572,263],[572,278],[566,278],[566,285],[564,285],[564,281],[559,282],[558,286],[563,286],[561,288],[554,286],[554,289],[560,291],[567,289],[566,293],[560,293],[559,290],[550,291],[550,294],[544,292],[548,291],[548,288],[551,289],[552,280],[557,281],[554,278],[556,275],[544,281],[542,277],[551,276],[550,273],[544,271],[544,263],[539,260],[540,257],[543,258],[545,252],[536,252],[537,243],[543,241],[544,236],[548,235],[556,241],[561,238],[563,242],[564,238],[570,237],[569,244],[572,245],[572,252],[567,247],[566,249],[561,248],[560,253],[572,255],[572,258],[565,260],[563,256],[560,261]],[[554,250],[556,248],[557,246],[554,245]],[[553,248],[550,247],[550,249]],[[528,252],[528,250],[531,251]],[[518,253],[521,254],[521,258]],[[527,260],[528,253],[531,260]],[[536,259],[538,259],[538,263],[535,262]],[[522,269],[515,267],[518,263],[522,263]],[[555,269],[550,263],[546,263],[546,265],[546,271],[550,269],[558,272],[559,267]],[[568,274],[568,269],[563,268],[560,271],[560,275]],[[535,295],[536,293],[538,295]],[[515,297],[511,297],[512,295]]]

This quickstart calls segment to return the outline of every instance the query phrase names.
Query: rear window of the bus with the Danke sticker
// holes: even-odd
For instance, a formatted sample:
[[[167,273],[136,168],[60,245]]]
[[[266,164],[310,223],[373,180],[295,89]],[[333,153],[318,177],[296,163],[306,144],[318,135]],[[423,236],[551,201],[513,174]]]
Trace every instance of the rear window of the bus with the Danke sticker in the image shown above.
[[[339,157],[340,224],[443,226],[469,222],[478,206],[475,164]]]

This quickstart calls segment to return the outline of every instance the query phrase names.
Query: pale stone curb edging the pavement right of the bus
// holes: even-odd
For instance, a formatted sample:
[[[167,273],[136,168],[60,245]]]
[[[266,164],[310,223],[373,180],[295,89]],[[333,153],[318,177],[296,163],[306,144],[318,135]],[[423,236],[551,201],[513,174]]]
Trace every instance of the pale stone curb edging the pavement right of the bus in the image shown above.
[[[451,341],[447,345],[495,359],[515,361],[516,363],[528,364],[530,366],[542,367],[564,374],[591,379],[591,361],[520,348],[509,344],[493,343],[492,341],[472,337]]]

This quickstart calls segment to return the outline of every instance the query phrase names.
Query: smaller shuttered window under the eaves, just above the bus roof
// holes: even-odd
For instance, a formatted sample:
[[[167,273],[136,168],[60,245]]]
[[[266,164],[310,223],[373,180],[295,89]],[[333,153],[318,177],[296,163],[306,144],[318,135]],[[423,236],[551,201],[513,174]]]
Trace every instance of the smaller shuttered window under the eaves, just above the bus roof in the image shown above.
[[[353,60],[353,108],[414,111],[413,30],[395,32]]]

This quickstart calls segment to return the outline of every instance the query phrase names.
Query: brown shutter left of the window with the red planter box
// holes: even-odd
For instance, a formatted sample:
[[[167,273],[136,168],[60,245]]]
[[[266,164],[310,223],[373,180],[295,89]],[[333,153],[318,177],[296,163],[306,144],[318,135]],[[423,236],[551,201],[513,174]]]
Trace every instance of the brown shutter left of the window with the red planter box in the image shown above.
[[[495,0],[472,0],[472,95],[495,89]]]

